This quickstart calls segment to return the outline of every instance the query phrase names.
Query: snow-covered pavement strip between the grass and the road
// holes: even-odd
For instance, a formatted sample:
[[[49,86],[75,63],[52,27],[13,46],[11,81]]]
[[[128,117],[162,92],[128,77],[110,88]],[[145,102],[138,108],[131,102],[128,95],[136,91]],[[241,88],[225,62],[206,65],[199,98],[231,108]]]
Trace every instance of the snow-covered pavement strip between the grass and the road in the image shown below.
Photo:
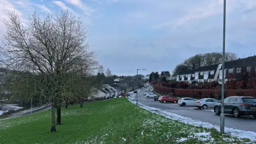
[[[132,97],[129,98],[129,100],[136,105],[134,95],[132,95]],[[139,102],[138,102],[138,106],[143,108],[143,109],[146,109],[146,110],[150,111],[151,113],[162,115],[166,118],[170,118],[170,119],[182,122],[182,123],[191,124],[191,125],[194,125],[194,126],[202,126],[202,127],[207,128],[207,129],[215,128],[217,131],[220,131],[220,126],[219,125],[213,125],[213,124],[210,124],[210,123],[201,122],[201,121],[196,120],[196,119],[191,119],[191,118],[183,117],[183,116],[180,116],[180,115],[177,115],[177,114],[172,114],[172,113],[169,113],[167,111],[164,111],[164,110],[161,110],[161,109],[158,109],[158,108],[145,106],[145,105],[143,105]],[[250,139],[251,141],[256,141],[256,133],[255,132],[242,131],[242,130],[237,130],[237,129],[233,129],[233,128],[230,128],[230,127],[225,127],[225,133],[230,134],[231,136],[234,136],[234,137],[239,138],[239,139]],[[188,139],[188,138],[184,138],[184,140],[185,139]]]

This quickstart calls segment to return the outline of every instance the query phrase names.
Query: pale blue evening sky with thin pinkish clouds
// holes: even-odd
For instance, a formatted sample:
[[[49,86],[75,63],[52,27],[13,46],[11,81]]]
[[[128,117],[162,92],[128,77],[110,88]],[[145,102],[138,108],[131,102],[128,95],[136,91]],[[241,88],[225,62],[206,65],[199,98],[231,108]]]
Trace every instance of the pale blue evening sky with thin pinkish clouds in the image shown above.
[[[0,0],[0,37],[8,11],[26,23],[34,11],[60,9],[82,17],[90,50],[112,74],[171,72],[195,54],[222,51],[223,0]],[[255,54],[255,14],[255,0],[227,0],[226,51]]]

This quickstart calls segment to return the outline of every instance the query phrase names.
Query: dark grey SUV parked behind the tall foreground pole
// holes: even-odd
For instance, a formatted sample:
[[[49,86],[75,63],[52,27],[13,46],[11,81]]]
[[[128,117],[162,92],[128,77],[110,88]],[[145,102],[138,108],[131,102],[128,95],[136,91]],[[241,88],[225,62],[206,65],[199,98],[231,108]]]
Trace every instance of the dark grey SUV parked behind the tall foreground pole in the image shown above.
[[[220,115],[221,103],[214,106],[214,113]],[[256,118],[256,98],[232,96],[224,99],[224,113],[233,114],[234,117],[252,115]]]

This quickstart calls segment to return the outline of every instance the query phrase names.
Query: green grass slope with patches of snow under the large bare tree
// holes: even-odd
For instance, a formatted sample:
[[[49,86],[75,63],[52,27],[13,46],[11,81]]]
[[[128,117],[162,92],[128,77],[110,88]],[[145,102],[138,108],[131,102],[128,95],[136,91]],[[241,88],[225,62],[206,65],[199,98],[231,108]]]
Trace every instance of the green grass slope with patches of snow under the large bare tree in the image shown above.
[[[0,143],[243,143],[205,129],[173,121],[135,106],[126,98],[62,109],[62,125],[50,132],[51,111],[0,121]]]

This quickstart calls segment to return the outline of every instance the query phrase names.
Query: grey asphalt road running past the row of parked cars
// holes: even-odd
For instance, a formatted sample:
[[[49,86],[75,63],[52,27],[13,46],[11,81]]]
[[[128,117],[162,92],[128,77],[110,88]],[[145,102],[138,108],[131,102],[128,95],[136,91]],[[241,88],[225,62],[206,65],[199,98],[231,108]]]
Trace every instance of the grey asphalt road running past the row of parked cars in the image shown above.
[[[150,86],[147,88],[142,88],[142,91],[138,93],[139,103],[149,107],[155,107],[164,111],[168,111],[180,116],[197,119],[202,122],[220,125],[220,116],[215,115],[213,109],[203,110],[189,106],[181,107],[177,103],[161,103],[154,101],[153,99],[147,99],[143,95],[147,89],[150,89]],[[235,118],[231,115],[225,115],[225,126],[238,130],[256,132],[256,119],[251,117]]]

